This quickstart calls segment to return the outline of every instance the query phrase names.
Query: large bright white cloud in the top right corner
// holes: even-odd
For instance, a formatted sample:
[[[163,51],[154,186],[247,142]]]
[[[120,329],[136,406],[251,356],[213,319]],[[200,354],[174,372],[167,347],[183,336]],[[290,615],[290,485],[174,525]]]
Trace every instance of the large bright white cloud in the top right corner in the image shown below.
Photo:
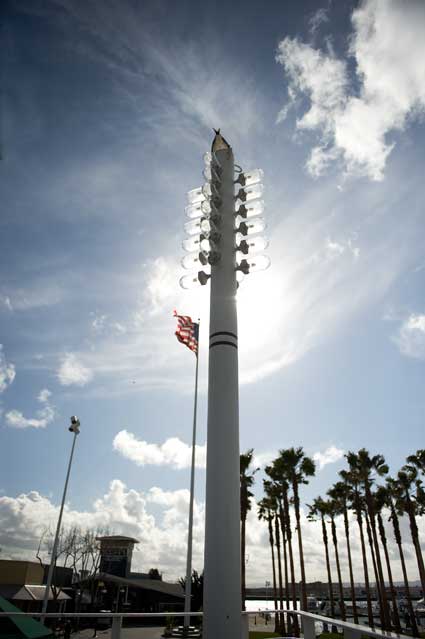
[[[310,108],[296,126],[320,137],[308,171],[317,177],[338,159],[346,174],[382,180],[395,146],[389,134],[403,130],[425,109],[425,5],[366,0],[353,12],[352,25],[358,95],[350,89],[344,61],[296,38],[280,42],[277,61],[290,88],[281,119],[298,96],[306,95]]]

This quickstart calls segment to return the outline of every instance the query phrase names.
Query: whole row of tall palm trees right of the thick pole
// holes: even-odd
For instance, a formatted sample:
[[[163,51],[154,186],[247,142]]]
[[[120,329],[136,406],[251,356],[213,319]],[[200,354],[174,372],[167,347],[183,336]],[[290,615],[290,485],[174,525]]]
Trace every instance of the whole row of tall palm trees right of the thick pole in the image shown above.
[[[339,613],[343,620],[347,616],[340,561],[339,544],[341,539],[338,539],[336,526],[337,519],[342,518],[352,614],[354,622],[358,623],[359,621],[351,549],[351,534],[353,531],[350,527],[352,526],[350,513],[353,513],[360,539],[363,567],[362,581],[365,583],[369,625],[374,626],[371,587],[372,583],[374,583],[379,603],[381,627],[385,630],[395,629],[397,632],[401,631],[384,523],[385,519],[388,518],[388,521],[391,522],[392,534],[398,549],[412,632],[414,636],[419,636],[403,552],[400,518],[406,516],[409,521],[422,592],[425,593],[425,568],[417,526],[417,517],[425,513],[425,488],[422,481],[422,477],[425,475],[425,450],[418,450],[414,455],[410,455],[406,460],[407,463],[395,477],[388,475],[389,468],[382,455],[371,455],[364,448],[358,452],[349,452],[345,458],[347,468],[339,473],[339,480],[328,490],[326,497],[318,496],[308,505],[308,519],[321,523],[331,615],[335,617],[336,601],[332,587],[328,530],[331,533],[335,557],[339,589]],[[251,470],[252,460],[252,449],[245,455],[241,455],[243,601],[245,600],[245,526],[247,514],[251,508],[251,497],[253,496],[251,488],[254,483],[254,475],[258,470]],[[283,608],[284,604],[286,604],[286,607],[289,607],[291,599],[294,609],[298,605],[293,544],[293,532],[295,532],[301,575],[300,605],[302,609],[306,610],[307,582],[302,538],[300,489],[315,475],[315,463],[305,455],[301,447],[289,448],[279,451],[277,458],[265,468],[265,472],[267,478],[263,480],[264,497],[258,504],[258,516],[260,519],[265,520],[268,525],[275,606],[279,605],[280,608]],[[295,522],[292,521],[292,513],[295,515]],[[367,544],[369,554],[367,553]],[[386,582],[388,582],[388,588]],[[277,620],[277,625],[278,630],[284,633],[286,629],[283,618]],[[296,633],[298,628],[293,627],[291,631]]]

